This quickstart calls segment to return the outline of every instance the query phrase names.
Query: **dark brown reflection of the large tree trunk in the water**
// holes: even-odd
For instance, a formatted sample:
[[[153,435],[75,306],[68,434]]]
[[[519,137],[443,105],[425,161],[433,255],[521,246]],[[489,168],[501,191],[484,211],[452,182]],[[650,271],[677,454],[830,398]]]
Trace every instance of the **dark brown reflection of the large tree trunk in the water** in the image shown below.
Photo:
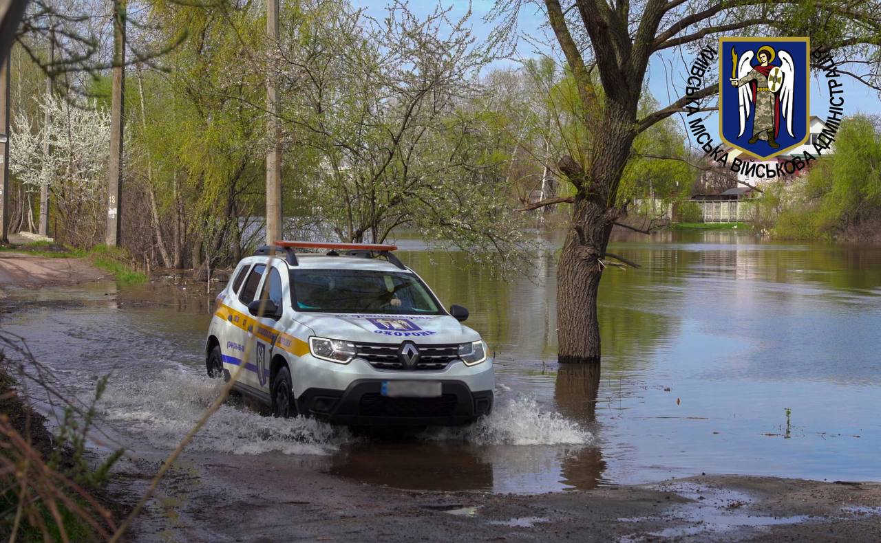
[[[596,428],[596,393],[600,385],[600,364],[563,364],[557,370],[554,401],[560,414],[589,428]],[[605,462],[598,444],[570,451],[560,474],[564,484],[587,490],[601,481]]]

